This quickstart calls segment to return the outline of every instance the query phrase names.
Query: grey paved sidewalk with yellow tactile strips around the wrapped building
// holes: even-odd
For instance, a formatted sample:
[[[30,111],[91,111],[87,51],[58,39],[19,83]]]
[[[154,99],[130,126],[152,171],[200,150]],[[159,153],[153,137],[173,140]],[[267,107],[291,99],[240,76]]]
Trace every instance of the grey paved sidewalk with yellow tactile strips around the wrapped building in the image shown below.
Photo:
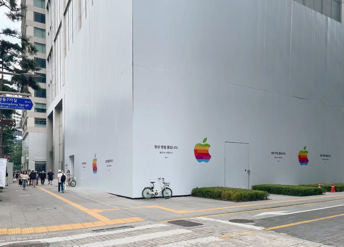
[[[39,185],[23,190],[14,182],[0,193],[0,235],[46,232],[68,227],[82,229],[143,220],[158,222],[343,198],[344,192],[308,197],[271,195],[270,200],[245,203],[191,196],[133,200],[78,186],[67,186],[63,194],[57,192],[57,185]]]

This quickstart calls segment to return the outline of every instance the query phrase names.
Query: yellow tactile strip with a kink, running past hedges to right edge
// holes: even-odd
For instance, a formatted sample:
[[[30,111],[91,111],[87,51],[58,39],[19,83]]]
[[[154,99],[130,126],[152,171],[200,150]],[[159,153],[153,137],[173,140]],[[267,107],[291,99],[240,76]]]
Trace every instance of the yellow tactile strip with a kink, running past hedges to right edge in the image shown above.
[[[344,194],[334,195],[334,196],[319,196],[319,197],[312,197],[312,198],[293,199],[293,200],[277,201],[277,202],[254,203],[254,204],[237,205],[237,206],[229,206],[229,207],[206,208],[206,209],[197,209],[197,210],[175,210],[175,209],[171,209],[171,208],[161,207],[158,205],[140,206],[140,207],[126,207],[123,209],[159,208],[159,209],[167,210],[167,211],[177,213],[177,214],[186,214],[186,213],[195,213],[195,212],[203,212],[203,211],[211,211],[211,210],[228,209],[228,208],[251,207],[251,206],[269,205],[269,204],[277,204],[277,203],[299,202],[299,201],[304,201],[304,200],[323,199],[323,198],[330,198],[330,197],[337,197],[337,196],[344,196]],[[324,201],[324,202],[326,202],[326,201]],[[293,206],[293,205],[291,205],[291,206]]]

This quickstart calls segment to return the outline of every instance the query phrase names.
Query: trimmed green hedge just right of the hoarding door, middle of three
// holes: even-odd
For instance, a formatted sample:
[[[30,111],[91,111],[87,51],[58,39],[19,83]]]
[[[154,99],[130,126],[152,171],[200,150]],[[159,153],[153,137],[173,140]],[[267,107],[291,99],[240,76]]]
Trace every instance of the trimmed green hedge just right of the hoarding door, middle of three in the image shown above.
[[[252,186],[252,189],[267,191],[270,194],[287,196],[314,196],[322,195],[326,192],[324,188],[307,187],[299,185],[281,185],[281,184],[259,184]]]

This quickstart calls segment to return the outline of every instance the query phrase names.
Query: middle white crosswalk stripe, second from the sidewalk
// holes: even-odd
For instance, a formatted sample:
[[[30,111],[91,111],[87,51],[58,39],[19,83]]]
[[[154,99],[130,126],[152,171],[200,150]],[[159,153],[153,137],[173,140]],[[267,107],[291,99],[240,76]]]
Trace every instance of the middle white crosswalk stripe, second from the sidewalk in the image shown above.
[[[144,241],[144,240],[153,239],[153,238],[173,236],[173,235],[184,234],[184,233],[192,233],[192,231],[187,230],[187,229],[158,231],[157,233],[147,233],[147,234],[142,234],[142,235],[133,236],[133,237],[127,237],[127,238],[117,238],[117,239],[111,239],[111,240],[95,242],[95,243],[90,243],[90,244],[85,244],[85,245],[76,245],[73,247],[107,247],[107,246],[111,246],[111,245],[122,245],[122,244],[128,245],[128,243]]]

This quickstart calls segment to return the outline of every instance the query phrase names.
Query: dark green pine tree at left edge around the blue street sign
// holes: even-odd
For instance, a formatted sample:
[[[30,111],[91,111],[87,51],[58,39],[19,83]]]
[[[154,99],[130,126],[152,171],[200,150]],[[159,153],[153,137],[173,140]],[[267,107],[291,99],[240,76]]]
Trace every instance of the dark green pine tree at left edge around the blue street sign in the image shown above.
[[[8,12],[6,16],[12,21],[20,21],[22,18],[22,11],[25,6],[18,6],[15,0],[0,0],[0,8],[5,8]],[[12,43],[6,40],[6,37],[14,37],[20,40],[20,44]],[[39,71],[40,68],[36,65],[33,59],[25,57],[27,53],[36,54],[37,49],[30,42],[29,38],[22,35],[18,30],[5,28],[0,31],[0,70],[22,74],[32,71]],[[21,92],[28,93],[29,88],[40,89],[39,84],[31,77],[24,77],[21,75],[12,76],[11,80],[4,78],[1,74],[0,91],[6,92]],[[0,119],[11,119],[14,110],[0,109]],[[7,143],[9,138],[13,137],[13,128],[0,126],[0,156],[3,156],[3,143]],[[12,132],[12,137],[9,134]]]

